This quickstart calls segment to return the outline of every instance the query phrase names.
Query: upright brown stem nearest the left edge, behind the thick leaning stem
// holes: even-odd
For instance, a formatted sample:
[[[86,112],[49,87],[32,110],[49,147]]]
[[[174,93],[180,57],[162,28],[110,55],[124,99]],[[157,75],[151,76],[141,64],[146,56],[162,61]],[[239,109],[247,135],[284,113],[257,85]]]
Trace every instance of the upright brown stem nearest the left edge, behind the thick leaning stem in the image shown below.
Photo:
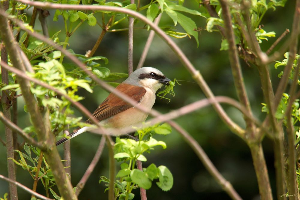
[[[1,6],[0,6],[1,7]],[[7,24],[8,26],[8,24]],[[2,37],[3,38],[3,37]],[[5,48],[1,49],[1,62],[7,63],[7,50],[6,46]],[[8,71],[1,67],[1,78],[2,83],[5,85],[8,85]],[[10,115],[10,100],[9,100],[9,90],[2,91],[2,98],[1,98],[1,105],[3,109],[3,115],[4,117],[10,121],[11,115]],[[6,156],[7,156],[7,172],[8,172],[8,178],[15,181],[16,180],[16,170],[15,170],[15,163],[12,159],[14,159],[14,142],[13,142],[13,133],[9,126],[4,126],[4,132],[5,132],[5,140],[6,140]],[[18,199],[18,193],[17,193],[17,187],[16,185],[9,183],[9,196],[10,199]]]

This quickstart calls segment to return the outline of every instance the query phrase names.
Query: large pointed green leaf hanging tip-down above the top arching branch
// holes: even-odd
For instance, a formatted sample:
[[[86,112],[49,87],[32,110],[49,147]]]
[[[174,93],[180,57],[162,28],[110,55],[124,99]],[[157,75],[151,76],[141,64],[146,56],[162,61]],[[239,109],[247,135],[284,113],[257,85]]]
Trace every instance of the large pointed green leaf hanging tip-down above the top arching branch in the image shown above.
[[[182,26],[182,28],[190,35],[192,35],[196,42],[197,42],[197,47],[199,46],[199,41],[198,41],[198,32],[195,31],[197,29],[196,23],[190,19],[187,16],[184,16],[181,13],[177,13],[177,19],[178,23]]]

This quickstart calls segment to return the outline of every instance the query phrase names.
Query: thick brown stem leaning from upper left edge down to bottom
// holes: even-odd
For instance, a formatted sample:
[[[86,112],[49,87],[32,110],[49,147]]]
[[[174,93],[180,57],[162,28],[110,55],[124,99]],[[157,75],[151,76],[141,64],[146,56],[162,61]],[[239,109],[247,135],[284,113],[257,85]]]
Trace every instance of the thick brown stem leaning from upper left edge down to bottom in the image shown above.
[[[3,12],[2,8],[0,10]],[[2,40],[6,45],[6,49],[8,54],[10,55],[10,61],[12,62],[13,66],[25,72],[25,66],[20,60],[19,49],[17,48],[18,43],[13,37],[13,33],[10,29],[10,26],[8,25],[7,18],[5,18],[3,15],[0,15],[0,34]],[[32,124],[35,127],[38,140],[50,148],[50,151],[46,151],[44,153],[46,155],[49,166],[52,169],[52,173],[55,178],[58,190],[65,200],[77,199],[73,194],[72,185],[67,179],[60,156],[58,154],[57,148],[55,147],[55,137],[51,133],[49,127],[50,124],[48,110],[44,109],[44,113],[41,113],[35,101],[35,98],[30,91],[30,82],[20,76],[18,76],[17,79],[28,108],[28,112],[30,113]],[[44,122],[42,121],[42,119],[44,119]]]

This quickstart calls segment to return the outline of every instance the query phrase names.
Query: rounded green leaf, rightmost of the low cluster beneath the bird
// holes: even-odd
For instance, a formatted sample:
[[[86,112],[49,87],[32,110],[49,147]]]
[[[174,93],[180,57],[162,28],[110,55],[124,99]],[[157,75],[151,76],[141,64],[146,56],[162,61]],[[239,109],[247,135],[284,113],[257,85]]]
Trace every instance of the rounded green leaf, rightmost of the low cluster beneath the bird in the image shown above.
[[[163,191],[168,191],[173,187],[173,176],[166,166],[159,166],[159,182],[156,184]]]

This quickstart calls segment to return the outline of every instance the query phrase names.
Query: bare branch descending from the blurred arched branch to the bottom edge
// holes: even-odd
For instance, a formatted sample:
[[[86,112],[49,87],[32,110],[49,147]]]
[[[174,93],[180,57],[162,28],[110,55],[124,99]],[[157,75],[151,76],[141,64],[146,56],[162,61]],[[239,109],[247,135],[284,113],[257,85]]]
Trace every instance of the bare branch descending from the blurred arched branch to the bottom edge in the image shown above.
[[[196,140],[190,136],[182,127],[180,127],[174,121],[168,121],[168,123],[174,127],[183,137],[185,142],[194,150],[196,155],[199,157],[201,162],[203,163],[205,169],[211,174],[211,176],[217,181],[217,183],[221,186],[221,188],[232,198],[235,200],[241,200],[242,198],[238,195],[238,193],[234,190],[229,181],[227,181],[217,170],[208,156],[205,154],[201,146],[196,142]]]

